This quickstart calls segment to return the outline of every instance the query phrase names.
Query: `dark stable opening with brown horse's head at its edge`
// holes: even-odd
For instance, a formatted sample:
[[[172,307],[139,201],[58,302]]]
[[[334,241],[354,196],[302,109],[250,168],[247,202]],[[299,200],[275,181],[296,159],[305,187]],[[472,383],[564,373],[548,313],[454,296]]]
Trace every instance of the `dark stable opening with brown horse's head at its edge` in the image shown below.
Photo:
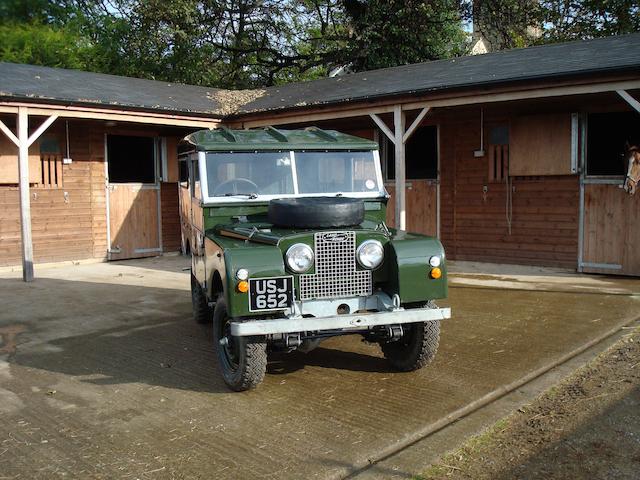
[[[587,117],[587,175],[624,176],[627,143],[640,142],[636,112],[592,113]]]

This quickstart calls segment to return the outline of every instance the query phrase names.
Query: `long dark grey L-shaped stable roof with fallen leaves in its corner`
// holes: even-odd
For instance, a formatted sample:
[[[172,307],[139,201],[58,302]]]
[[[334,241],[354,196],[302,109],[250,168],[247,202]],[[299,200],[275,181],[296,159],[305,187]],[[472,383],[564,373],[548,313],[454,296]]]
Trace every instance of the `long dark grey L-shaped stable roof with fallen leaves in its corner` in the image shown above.
[[[0,63],[0,99],[240,117],[522,81],[640,72],[640,33],[418,63],[263,90],[222,90]]]

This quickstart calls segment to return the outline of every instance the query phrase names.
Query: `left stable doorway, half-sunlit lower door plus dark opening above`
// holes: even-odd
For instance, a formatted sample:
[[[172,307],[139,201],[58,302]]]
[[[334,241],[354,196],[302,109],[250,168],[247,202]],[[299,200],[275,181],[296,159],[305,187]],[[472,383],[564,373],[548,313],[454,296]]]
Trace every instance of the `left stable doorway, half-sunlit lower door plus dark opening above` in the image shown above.
[[[162,252],[156,153],[153,137],[107,137],[110,260]]]

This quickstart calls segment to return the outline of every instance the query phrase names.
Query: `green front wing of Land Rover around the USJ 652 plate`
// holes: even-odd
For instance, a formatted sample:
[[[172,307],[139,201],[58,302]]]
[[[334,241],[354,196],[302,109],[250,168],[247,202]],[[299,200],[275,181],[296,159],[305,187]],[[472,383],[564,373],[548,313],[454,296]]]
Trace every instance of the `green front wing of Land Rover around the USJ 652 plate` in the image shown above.
[[[236,272],[239,268],[249,271],[249,278],[276,277],[289,275],[285,271],[282,252],[272,245],[251,245],[229,248],[224,251],[225,298],[231,317],[250,315],[249,294],[238,291]],[[226,278],[226,282],[225,282]]]

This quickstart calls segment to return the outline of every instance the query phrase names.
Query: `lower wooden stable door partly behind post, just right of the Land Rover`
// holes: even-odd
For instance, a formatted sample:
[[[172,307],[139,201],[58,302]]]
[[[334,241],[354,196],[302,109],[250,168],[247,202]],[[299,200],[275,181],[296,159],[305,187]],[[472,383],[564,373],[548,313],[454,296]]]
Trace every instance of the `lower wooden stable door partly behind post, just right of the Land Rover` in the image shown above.
[[[391,195],[387,223],[395,227],[395,186],[385,185]],[[438,229],[438,195],[435,180],[407,180],[405,207],[407,231],[435,237]]]

